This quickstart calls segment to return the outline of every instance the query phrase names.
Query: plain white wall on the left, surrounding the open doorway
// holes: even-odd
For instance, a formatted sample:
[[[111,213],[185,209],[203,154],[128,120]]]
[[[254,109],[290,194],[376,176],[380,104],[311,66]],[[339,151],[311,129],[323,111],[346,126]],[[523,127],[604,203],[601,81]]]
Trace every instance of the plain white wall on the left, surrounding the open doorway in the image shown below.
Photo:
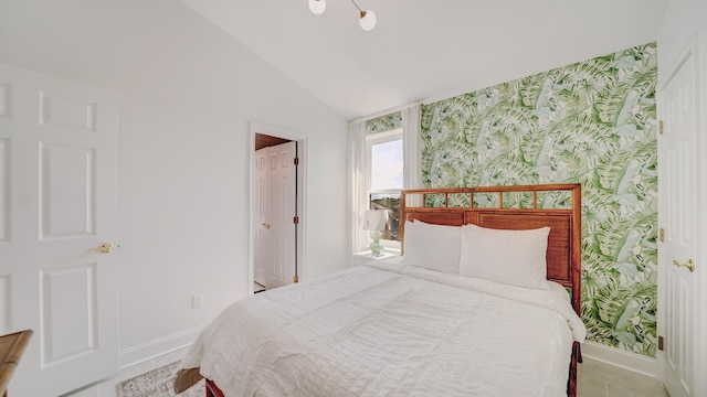
[[[0,62],[119,94],[122,365],[247,294],[251,121],[307,136],[308,277],[347,264],[347,121],[181,2],[2,0]]]

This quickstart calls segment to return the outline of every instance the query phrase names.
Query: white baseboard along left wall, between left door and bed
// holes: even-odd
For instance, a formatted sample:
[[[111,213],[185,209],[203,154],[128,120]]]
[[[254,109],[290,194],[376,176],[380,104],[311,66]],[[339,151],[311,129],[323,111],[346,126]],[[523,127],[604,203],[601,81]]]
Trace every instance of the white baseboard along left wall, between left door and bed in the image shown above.
[[[120,369],[184,348],[194,342],[202,329],[202,326],[196,326],[154,341],[141,343],[133,347],[124,348],[118,353]]]

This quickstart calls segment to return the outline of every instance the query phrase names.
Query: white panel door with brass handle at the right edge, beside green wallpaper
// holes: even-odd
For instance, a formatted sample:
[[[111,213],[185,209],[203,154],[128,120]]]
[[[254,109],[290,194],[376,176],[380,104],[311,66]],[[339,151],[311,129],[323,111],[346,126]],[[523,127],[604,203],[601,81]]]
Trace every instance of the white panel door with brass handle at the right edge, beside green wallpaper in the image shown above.
[[[663,133],[658,137],[658,371],[672,397],[696,396],[695,330],[700,310],[695,298],[697,197],[697,109],[695,65],[688,54],[658,93]],[[659,343],[658,343],[659,345]]]

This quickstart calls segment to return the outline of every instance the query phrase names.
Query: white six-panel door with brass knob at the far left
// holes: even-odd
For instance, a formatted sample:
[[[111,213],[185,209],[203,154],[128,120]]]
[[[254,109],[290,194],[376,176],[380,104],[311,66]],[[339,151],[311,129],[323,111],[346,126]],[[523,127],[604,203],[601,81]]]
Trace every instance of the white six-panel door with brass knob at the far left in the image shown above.
[[[9,395],[56,396],[118,369],[118,101],[3,64],[0,87],[0,331],[34,331]]]

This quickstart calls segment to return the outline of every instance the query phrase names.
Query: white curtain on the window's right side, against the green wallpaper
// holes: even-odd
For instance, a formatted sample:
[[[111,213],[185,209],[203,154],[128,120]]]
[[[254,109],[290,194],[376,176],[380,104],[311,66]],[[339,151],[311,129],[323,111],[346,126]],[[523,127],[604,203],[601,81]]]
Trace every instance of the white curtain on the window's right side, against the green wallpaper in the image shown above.
[[[413,104],[402,114],[403,189],[422,189],[422,160],[420,148],[420,104]],[[421,196],[407,197],[408,205],[419,206]]]

